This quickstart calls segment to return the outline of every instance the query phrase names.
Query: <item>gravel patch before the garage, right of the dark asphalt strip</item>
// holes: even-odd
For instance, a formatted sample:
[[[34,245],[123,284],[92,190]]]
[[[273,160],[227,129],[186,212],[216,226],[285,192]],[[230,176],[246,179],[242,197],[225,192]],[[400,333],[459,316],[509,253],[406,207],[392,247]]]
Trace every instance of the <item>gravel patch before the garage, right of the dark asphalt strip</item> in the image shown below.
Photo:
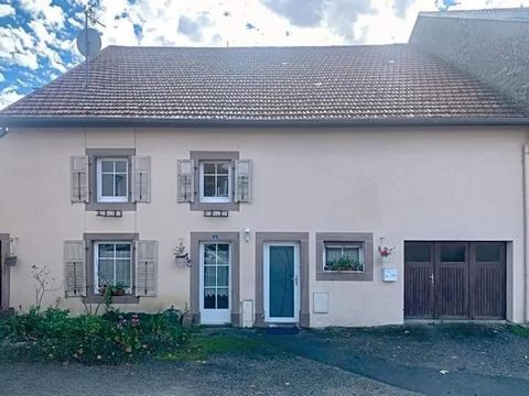
[[[529,339],[505,324],[410,324],[303,331],[341,350],[412,366],[529,378]]]

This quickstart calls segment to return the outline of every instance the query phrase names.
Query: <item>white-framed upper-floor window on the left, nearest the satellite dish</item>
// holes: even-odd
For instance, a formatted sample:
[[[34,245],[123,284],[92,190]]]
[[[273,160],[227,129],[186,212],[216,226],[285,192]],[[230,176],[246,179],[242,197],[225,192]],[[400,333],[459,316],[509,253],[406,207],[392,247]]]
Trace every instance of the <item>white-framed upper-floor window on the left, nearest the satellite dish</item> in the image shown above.
[[[97,201],[129,201],[129,160],[97,160]]]

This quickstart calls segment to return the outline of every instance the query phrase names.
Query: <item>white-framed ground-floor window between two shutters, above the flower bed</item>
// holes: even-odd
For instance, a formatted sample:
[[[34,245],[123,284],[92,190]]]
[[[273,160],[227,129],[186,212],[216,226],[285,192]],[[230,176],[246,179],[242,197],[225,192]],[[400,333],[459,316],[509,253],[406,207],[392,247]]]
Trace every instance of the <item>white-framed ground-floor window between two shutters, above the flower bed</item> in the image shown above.
[[[118,286],[126,294],[132,293],[132,243],[95,242],[94,243],[94,280],[95,294],[101,287]]]

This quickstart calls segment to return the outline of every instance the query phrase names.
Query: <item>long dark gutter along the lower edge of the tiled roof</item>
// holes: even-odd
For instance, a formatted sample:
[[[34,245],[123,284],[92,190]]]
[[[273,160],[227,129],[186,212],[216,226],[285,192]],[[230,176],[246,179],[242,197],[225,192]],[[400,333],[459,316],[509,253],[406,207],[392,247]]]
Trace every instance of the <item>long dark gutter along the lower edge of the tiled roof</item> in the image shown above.
[[[174,119],[122,117],[18,117],[0,116],[2,128],[76,128],[76,127],[212,127],[212,128],[321,128],[321,127],[462,127],[462,125],[529,125],[529,117],[511,118],[374,118],[374,119]]]

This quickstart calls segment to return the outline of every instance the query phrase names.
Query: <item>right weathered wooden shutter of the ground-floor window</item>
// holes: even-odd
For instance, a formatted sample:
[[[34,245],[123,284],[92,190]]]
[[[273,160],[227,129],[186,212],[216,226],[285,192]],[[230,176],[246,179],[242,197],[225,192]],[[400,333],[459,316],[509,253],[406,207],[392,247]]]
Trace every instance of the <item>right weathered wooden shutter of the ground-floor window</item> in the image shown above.
[[[158,292],[158,241],[136,241],[136,296],[154,297]]]

